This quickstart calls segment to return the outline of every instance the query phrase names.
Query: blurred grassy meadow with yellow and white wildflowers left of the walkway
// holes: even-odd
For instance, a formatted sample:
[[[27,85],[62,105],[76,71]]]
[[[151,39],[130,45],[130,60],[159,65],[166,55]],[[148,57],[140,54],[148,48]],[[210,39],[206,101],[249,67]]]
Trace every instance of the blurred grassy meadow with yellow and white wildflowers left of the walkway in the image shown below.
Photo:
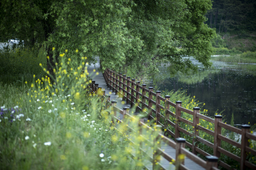
[[[118,130],[111,126],[110,108],[88,90],[90,73],[81,74],[86,57],[77,54],[81,62],[72,65],[64,62],[68,53],[61,56],[55,82],[32,75],[32,82],[21,85],[0,83],[1,169],[142,169],[146,159],[138,147],[144,140],[138,138],[139,120],[130,122],[131,132],[125,124],[119,123]],[[154,138],[154,133],[146,135]]]

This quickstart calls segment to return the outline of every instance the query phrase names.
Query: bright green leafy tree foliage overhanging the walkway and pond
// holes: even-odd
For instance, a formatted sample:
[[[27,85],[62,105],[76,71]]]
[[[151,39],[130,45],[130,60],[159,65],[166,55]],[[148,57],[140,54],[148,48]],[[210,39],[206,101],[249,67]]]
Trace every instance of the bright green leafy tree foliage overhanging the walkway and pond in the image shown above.
[[[137,74],[161,63],[173,72],[195,69],[187,56],[210,66],[215,31],[204,24],[210,0],[1,0],[0,7],[0,39],[44,44],[50,72],[53,52],[65,49]]]

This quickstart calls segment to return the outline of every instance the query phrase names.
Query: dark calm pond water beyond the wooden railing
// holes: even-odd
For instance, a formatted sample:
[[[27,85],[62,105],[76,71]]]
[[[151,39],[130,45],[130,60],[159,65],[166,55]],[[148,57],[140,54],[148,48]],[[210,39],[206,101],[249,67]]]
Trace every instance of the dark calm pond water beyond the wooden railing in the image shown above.
[[[187,90],[188,95],[206,103],[203,109],[208,110],[208,115],[223,111],[227,123],[230,123],[232,113],[234,124],[238,126],[256,123],[256,76],[242,74],[239,70],[221,70],[192,84],[182,83],[178,77],[167,77],[155,83],[159,90]]]

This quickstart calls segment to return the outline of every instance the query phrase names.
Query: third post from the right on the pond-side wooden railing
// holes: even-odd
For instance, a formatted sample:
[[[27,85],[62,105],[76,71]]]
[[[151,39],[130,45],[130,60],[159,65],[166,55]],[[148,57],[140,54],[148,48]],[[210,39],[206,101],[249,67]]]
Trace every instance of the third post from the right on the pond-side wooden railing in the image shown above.
[[[193,139],[192,139],[192,153],[196,154],[196,136],[198,136],[198,130],[197,125],[199,124],[199,118],[197,117],[197,114],[200,112],[200,107],[193,107]]]

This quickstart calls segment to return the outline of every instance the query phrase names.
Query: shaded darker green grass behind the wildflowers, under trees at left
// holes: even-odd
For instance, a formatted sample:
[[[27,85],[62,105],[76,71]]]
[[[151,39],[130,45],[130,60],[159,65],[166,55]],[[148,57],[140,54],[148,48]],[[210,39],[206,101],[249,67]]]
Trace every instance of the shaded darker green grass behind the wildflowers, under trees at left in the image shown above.
[[[0,81],[3,83],[31,82],[33,75],[41,77],[44,72],[39,63],[46,66],[45,48],[5,48],[0,51]],[[24,79],[26,78],[26,80]]]

